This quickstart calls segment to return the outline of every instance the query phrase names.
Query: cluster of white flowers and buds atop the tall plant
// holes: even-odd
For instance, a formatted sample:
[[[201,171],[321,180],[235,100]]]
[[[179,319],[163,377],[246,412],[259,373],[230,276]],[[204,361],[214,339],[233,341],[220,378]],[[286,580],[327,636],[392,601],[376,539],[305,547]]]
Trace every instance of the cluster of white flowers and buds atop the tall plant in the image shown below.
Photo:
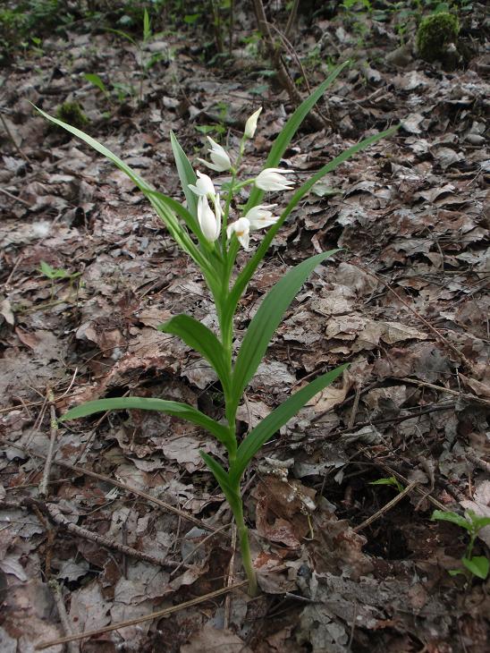
[[[258,116],[262,111],[260,107],[254,114],[251,114],[247,123],[245,124],[245,131],[241,141],[241,153],[243,152],[243,145],[246,139],[253,138],[257,130]],[[234,186],[236,170],[233,168],[232,159],[226,150],[211,139],[209,136],[207,140],[210,144],[209,157],[211,163],[205,159],[199,158],[198,161],[206,165],[211,170],[218,173],[226,171],[232,172],[232,186],[233,188],[241,188],[247,184],[255,184],[261,191],[290,191],[293,185],[291,180],[287,179],[284,175],[290,174],[291,170],[283,170],[282,168],[266,168],[258,174],[255,179],[250,179],[246,182],[238,183]],[[219,194],[215,191],[215,184],[207,174],[197,172],[198,179],[195,184],[189,184],[190,191],[194,192],[198,197],[198,222],[199,228],[204,237],[209,242],[215,242],[220,237],[222,230],[222,220],[226,224],[229,210],[229,202],[225,209],[220,203]],[[210,203],[213,208],[211,208]],[[274,225],[279,219],[279,216],[274,216],[271,209],[275,208],[276,204],[258,204],[258,206],[250,208],[245,216],[242,216],[226,226],[226,238],[231,240],[233,234],[240,242],[241,246],[249,249],[250,232],[258,229],[264,229],[268,226]]]

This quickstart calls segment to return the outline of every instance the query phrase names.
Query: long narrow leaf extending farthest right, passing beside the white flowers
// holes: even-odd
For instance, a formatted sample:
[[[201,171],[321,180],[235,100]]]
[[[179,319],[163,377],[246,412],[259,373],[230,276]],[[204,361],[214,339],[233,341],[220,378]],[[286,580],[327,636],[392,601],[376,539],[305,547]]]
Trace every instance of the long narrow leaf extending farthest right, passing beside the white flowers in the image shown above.
[[[375,134],[374,136],[369,136],[367,137],[367,139],[361,140],[359,143],[356,143],[356,145],[352,145],[351,148],[347,148],[338,157],[332,159],[330,163],[327,163],[322,168],[320,168],[320,170],[318,170],[317,173],[313,174],[313,176],[311,176],[307,182],[303,183],[303,185],[300,186],[298,191],[296,191],[292,196],[288,206],[284,208],[283,213],[281,214],[279,220],[275,223],[275,225],[271,226],[271,228],[267,231],[262,242],[260,242],[255,254],[252,256],[251,259],[249,259],[247,265],[241,270],[240,275],[237,277],[235,283],[233,284],[232,291],[230,293],[230,301],[227,304],[227,310],[231,314],[234,314],[234,311],[236,310],[236,306],[241,299],[241,295],[243,294],[245,288],[247,287],[247,284],[249,283],[249,280],[252,278],[254,272],[256,271],[258,264],[266,255],[266,251],[268,250],[271,242],[273,242],[275,234],[283,226],[286,217],[291,214],[291,211],[294,208],[296,208],[300,200],[308,193],[311,187],[315,183],[317,183],[322,177],[324,177],[325,174],[333,172],[338,165],[341,165],[342,163],[347,161],[347,159],[353,157],[358,152],[373,145],[373,143],[376,143],[377,140],[381,140],[389,136],[393,136],[393,134],[396,133],[398,129],[399,129],[398,126],[392,127],[391,129],[386,131],[381,131],[380,133]],[[226,317],[230,318],[229,315],[227,315]]]

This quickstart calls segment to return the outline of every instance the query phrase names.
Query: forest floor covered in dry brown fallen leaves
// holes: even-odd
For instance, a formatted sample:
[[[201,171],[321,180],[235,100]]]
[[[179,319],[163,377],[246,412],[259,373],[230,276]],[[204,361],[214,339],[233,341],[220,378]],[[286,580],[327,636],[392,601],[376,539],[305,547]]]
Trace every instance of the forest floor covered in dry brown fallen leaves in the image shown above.
[[[324,129],[307,124],[283,157],[295,183],[360,139],[401,129],[301,202],[237,314],[240,340],[287,269],[342,248],[293,302],[239,413],[245,435],[307,379],[350,363],[246,473],[258,598],[243,586],[214,594],[243,575],[230,511],[199,457],[199,449],[223,452],[201,429],[143,411],[63,422],[57,432],[52,424],[82,401],[124,394],[219,417],[221,393],[212,369],[156,331],[179,313],[215,326],[199,270],[131,180],[30,102],[55,114],[76,100],[86,131],[179,200],[171,130],[199,165],[205,133],[236,151],[246,118],[263,106],[245,159],[257,174],[294,106],[257,41],[241,40],[256,29],[241,11],[237,45],[214,63],[203,63],[190,32],[165,33],[139,53],[161,55],[141,78],[131,42],[80,27],[4,69],[4,653],[86,631],[97,634],[70,643],[71,652],[487,650],[487,581],[450,573],[462,566],[468,536],[431,520],[435,509],[490,513],[484,15],[474,4],[464,19],[473,52],[451,72],[397,49],[391,20],[365,16],[360,42],[355,23],[335,17],[300,17],[291,33],[285,62],[310,88],[331,60],[351,57],[318,104]],[[304,81],[297,88],[308,95]],[[51,280],[41,261],[64,272]],[[392,480],[372,485],[379,479]],[[474,555],[488,555],[489,528]]]

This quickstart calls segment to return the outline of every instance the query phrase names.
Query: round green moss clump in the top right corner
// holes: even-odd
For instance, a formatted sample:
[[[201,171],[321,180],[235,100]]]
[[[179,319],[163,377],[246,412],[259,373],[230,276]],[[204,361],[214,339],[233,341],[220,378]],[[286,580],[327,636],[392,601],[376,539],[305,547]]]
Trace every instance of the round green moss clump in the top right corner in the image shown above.
[[[452,13],[435,13],[424,18],[417,30],[416,47],[418,56],[428,62],[444,61],[447,47],[456,43],[460,22]]]

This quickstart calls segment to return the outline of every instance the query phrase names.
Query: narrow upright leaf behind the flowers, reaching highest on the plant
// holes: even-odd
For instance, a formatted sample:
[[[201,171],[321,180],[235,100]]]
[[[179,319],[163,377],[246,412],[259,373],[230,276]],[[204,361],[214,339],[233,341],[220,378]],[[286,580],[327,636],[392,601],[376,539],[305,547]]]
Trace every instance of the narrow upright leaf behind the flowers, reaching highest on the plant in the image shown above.
[[[350,62],[346,61],[343,64],[338,65],[334,71],[328,75],[326,80],[322,81],[317,89],[315,89],[308,98],[301,102],[300,106],[298,106],[298,108],[294,111],[288,122],[283,126],[279,136],[275,139],[274,145],[272,146],[264,165],[265,168],[277,167],[281,157],[286,151],[286,148],[291,143],[294,134],[300,129],[301,123],[307,117],[311,109],[317,104],[317,101],[323,96],[325,90],[328,89],[328,87],[335,81],[345,66],[349,64]],[[253,191],[250,192],[246,210],[257,206],[263,196],[264,191],[254,187]]]

